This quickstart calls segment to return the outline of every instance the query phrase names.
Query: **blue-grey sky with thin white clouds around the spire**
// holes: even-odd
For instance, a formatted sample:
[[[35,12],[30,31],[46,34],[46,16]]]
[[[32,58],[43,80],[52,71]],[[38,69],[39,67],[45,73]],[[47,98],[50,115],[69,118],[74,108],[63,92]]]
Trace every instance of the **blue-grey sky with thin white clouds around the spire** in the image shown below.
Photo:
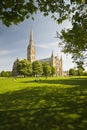
[[[69,68],[75,66],[70,55],[66,56],[60,51],[56,38],[56,31],[59,32],[62,28],[70,27],[70,23],[66,21],[58,25],[50,16],[44,17],[41,13],[38,13],[34,16],[34,20],[28,19],[9,28],[0,22],[0,72],[2,70],[12,70],[13,62],[17,58],[27,58],[31,27],[37,59],[50,57],[53,50],[54,55],[59,57],[62,55],[63,70],[69,70]]]

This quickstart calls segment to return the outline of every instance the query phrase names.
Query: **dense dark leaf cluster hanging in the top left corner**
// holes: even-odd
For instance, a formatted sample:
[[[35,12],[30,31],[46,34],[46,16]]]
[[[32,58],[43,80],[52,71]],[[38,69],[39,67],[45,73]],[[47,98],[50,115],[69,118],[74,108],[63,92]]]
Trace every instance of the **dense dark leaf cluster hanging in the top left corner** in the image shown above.
[[[6,26],[17,24],[29,18],[36,10],[33,0],[1,0],[0,20]]]

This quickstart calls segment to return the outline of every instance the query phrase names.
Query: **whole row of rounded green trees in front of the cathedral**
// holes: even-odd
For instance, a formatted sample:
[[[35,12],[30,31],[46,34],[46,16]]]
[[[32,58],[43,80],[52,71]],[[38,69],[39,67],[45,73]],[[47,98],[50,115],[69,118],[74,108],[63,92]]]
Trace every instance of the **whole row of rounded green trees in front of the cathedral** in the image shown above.
[[[43,64],[43,65],[42,65]],[[4,73],[4,72],[3,72]],[[34,61],[32,64],[24,59],[19,61],[18,59],[14,62],[12,74],[14,77],[17,76],[42,76],[46,77],[54,75],[56,73],[55,67],[51,67],[49,63],[41,63],[40,61]]]

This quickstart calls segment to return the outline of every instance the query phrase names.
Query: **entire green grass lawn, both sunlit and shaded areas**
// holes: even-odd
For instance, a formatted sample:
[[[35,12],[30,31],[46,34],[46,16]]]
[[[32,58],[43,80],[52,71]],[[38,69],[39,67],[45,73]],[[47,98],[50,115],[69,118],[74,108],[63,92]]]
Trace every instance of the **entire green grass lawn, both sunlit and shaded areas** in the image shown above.
[[[0,130],[87,130],[87,77],[0,78]]]

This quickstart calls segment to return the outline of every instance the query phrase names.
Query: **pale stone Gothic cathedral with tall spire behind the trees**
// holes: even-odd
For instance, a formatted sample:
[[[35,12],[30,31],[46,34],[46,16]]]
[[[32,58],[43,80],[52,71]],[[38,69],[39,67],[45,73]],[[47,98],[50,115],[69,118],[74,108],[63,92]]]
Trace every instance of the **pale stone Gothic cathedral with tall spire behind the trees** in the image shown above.
[[[29,45],[27,47],[27,60],[30,61],[30,63],[36,61],[36,48],[34,45],[34,39],[33,39],[33,32],[32,29],[30,30],[30,39],[29,39]],[[52,54],[49,58],[40,59],[38,60],[40,62],[48,62],[51,66],[56,68],[56,76],[62,76],[63,74],[63,68],[62,68],[62,56],[61,58],[58,58],[58,56],[54,56],[54,53],[52,51]],[[13,72],[16,73],[16,64],[18,62],[18,59],[13,64]]]

